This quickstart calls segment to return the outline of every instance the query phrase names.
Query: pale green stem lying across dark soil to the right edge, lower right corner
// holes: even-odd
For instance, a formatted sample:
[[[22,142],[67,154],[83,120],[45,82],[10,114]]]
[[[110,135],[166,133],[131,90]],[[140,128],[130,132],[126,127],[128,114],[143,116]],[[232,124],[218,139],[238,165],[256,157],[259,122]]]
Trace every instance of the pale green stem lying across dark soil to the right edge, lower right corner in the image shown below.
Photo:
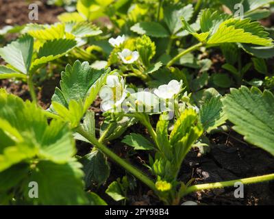
[[[251,184],[251,183],[262,183],[264,181],[271,181],[274,180],[274,174],[270,175],[264,175],[260,177],[251,177],[251,178],[245,178],[245,179],[236,179],[232,181],[224,181],[220,183],[206,183],[201,185],[192,185],[188,187],[184,192],[182,192],[182,196],[186,196],[187,194],[191,192],[197,192],[199,190],[212,190],[217,188],[224,188],[229,186],[234,186],[236,182],[241,182],[243,184]]]

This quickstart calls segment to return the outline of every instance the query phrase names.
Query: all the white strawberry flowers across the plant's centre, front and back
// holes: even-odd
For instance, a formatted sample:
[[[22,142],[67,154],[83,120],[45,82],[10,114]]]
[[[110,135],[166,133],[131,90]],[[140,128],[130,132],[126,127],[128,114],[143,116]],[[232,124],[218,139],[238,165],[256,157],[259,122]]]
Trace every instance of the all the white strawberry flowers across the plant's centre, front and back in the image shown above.
[[[125,42],[125,35],[118,36],[117,38],[110,38],[108,42],[110,42],[113,47],[120,47]],[[118,55],[125,64],[132,64],[139,58],[138,51],[131,51],[129,49],[123,49],[123,51],[119,52]],[[137,92],[132,93],[131,95],[137,100],[137,103],[143,103],[145,105],[151,105],[151,107],[155,107],[155,104],[158,104],[160,100],[164,101],[164,103],[167,103],[166,101],[175,99],[177,94],[182,91],[182,85],[182,81],[172,80],[168,84],[161,85],[158,87],[158,89],[155,89],[153,91],[154,94],[150,92]],[[103,86],[99,92],[99,96],[103,100],[101,103],[101,110],[117,110],[118,107],[120,110],[122,103],[127,98],[127,94],[129,94],[129,92],[126,90],[123,77],[119,76],[118,74],[108,76],[105,86]],[[155,96],[155,98],[153,96]],[[185,93],[183,99],[187,98],[189,99],[187,93]],[[152,103],[153,101],[155,102],[155,100],[158,103]],[[150,102],[151,104],[149,104]],[[186,105],[184,108],[186,108]],[[192,108],[196,112],[199,112],[198,107]]]

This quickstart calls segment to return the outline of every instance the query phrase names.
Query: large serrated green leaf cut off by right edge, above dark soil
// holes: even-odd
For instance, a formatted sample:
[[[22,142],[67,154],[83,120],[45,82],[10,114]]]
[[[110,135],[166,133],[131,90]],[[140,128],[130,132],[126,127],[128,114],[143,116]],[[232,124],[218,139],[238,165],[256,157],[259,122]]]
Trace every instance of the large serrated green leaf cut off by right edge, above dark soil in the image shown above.
[[[242,86],[231,89],[223,99],[225,114],[234,123],[233,129],[250,144],[274,155],[274,96],[265,90]]]

